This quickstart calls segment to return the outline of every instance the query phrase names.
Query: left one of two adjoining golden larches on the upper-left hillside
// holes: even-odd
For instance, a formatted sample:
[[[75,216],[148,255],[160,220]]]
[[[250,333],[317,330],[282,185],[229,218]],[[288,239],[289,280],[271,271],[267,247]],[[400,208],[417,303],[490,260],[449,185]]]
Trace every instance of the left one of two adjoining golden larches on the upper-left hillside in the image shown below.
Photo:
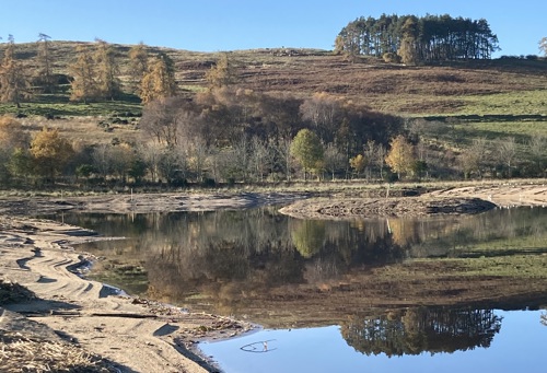
[[[71,85],[71,101],[83,101],[85,104],[97,95],[97,85],[95,81],[95,69],[93,56],[89,47],[79,45],[77,48],[78,58],[74,63],[69,66],[73,75]]]

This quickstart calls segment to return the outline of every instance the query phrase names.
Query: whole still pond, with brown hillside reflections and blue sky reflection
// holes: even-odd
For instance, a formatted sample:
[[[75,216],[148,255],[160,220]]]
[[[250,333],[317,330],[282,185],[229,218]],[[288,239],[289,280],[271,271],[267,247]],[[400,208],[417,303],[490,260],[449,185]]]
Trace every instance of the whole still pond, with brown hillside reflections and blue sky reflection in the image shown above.
[[[85,247],[106,258],[93,270],[98,279],[263,325],[201,346],[226,372],[544,363],[534,351],[547,341],[537,311],[547,305],[546,209],[353,221],[298,220],[275,207],[62,219],[127,237]]]

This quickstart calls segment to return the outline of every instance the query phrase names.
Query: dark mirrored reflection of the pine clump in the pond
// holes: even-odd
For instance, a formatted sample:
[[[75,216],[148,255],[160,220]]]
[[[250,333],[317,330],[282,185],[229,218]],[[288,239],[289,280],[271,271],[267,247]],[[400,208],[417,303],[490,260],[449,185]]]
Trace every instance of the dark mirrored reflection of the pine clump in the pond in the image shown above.
[[[492,310],[409,308],[342,324],[348,345],[364,354],[387,357],[488,348],[502,317]]]

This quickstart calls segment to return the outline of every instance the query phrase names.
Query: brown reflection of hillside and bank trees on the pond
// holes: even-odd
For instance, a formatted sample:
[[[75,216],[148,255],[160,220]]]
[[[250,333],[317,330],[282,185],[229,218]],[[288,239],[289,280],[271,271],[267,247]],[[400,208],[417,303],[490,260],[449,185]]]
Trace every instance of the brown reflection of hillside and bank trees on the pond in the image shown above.
[[[400,266],[432,257],[519,253],[535,258],[547,253],[547,213],[542,209],[350,222],[296,220],[275,208],[74,214],[65,221],[105,235],[132,237],[100,243],[96,249],[117,263],[141,266],[144,270],[137,275],[146,277],[147,296],[196,311],[248,316],[270,326],[328,324],[371,306],[406,310],[417,304],[463,303],[477,298],[473,292],[477,287],[482,288],[481,300],[513,296],[521,302],[505,302],[504,307],[547,300],[540,281],[535,285],[543,290],[523,295],[534,290],[527,282],[503,289],[497,277],[477,284],[465,278],[456,282],[429,261],[416,268]],[[452,266],[461,270],[459,263]],[[434,283],[423,283],[428,279],[420,278],[422,273],[433,273]],[[129,275],[121,279],[127,283],[115,284],[131,289],[136,271]]]

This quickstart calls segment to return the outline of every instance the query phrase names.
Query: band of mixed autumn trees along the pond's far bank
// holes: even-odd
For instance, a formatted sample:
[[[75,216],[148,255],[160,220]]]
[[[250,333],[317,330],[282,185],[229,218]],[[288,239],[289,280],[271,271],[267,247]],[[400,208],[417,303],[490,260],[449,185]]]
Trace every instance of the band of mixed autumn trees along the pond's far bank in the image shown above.
[[[341,120],[345,128],[323,132],[305,110],[318,97],[292,98],[300,105],[293,103],[296,112],[292,114],[298,119],[290,127],[284,120],[276,120],[290,117],[291,113],[261,112],[259,106],[255,107],[254,115],[260,117],[254,120],[271,127],[260,131],[259,127],[248,125],[253,114],[247,113],[247,121],[241,120],[245,112],[242,107],[222,103],[235,97],[241,104],[237,100],[241,94],[252,95],[224,89],[200,97],[212,100],[209,104],[198,105],[185,98],[154,102],[144,109],[141,138],[132,142],[117,138],[101,144],[69,141],[58,129],[47,127],[30,135],[20,120],[0,117],[0,182],[12,187],[56,183],[91,188],[182,187],[310,178],[394,182],[545,177],[547,170],[547,139],[543,137],[527,143],[519,143],[512,137],[479,138],[456,153],[429,144],[428,139],[433,135],[423,136],[421,120],[406,124],[408,130],[393,128],[392,120],[396,118],[366,116],[354,108],[340,108],[336,114],[334,120]],[[263,105],[271,104],[268,96],[256,94],[255,100]],[[323,95],[321,100],[328,103],[333,98]],[[249,109],[247,106],[246,110]],[[393,132],[381,132],[385,125],[379,119],[391,123]]]

